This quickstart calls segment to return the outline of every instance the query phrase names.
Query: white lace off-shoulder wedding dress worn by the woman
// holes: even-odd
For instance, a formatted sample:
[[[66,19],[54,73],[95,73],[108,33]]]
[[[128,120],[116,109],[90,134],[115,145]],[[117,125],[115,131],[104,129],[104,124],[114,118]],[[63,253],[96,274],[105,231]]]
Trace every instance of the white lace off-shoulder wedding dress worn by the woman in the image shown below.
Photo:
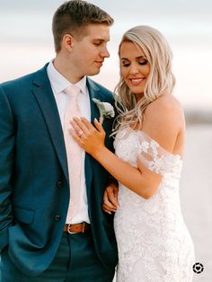
[[[119,250],[118,282],[190,282],[194,250],[181,215],[181,156],[171,154],[141,130],[125,128],[114,142],[119,158],[163,175],[152,198],[119,183],[115,233]]]

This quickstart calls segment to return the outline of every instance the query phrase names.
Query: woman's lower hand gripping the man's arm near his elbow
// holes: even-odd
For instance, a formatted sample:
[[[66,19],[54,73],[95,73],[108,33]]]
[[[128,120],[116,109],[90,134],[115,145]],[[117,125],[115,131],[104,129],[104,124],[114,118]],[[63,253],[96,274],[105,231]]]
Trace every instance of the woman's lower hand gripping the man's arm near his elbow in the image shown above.
[[[114,183],[110,183],[110,185],[104,191],[102,209],[110,215],[111,212],[116,212],[117,208],[119,207],[118,192],[119,188]]]

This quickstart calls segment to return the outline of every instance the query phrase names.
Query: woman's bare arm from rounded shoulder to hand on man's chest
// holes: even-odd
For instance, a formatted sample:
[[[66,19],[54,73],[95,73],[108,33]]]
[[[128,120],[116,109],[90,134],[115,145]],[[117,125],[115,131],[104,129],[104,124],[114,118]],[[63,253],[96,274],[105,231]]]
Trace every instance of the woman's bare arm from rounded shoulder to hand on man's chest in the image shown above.
[[[137,153],[137,168],[127,162],[119,159],[118,156],[111,153],[104,145],[105,132],[102,125],[94,120],[93,125],[82,118],[75,119],[72,131],[76,142],[81,145],[84,150],[93,156],[102,166],[110,172],[110,174],[128,189],[143,198],[150,198],[162,180],[163,172],[155,172],[151,170],[149,165],[141,162],[141,154]],[[164,96],[152,102],[146,109],[143,130],[149,137],[152,137],[159,145],[159,150],[173,152],[176,140],[184,129],[183,112],[181,105],[171,95]],[[84,134],[78,137],[76,132],[83,131]],[[179,150],[182,151],[182,146]],[[154,156],[151,154],[143,155],[146,163],[154,163]],[[143,158],[143,159],[144,159]],[[163,158],[162,158],[163,159]]]

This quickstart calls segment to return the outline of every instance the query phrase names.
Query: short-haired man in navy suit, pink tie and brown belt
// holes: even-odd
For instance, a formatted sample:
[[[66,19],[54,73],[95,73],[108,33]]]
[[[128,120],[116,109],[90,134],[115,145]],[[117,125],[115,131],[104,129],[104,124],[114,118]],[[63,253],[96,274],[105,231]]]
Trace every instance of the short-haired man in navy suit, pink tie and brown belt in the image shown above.
[[[110,177],[68,134],[72,115],[100,118],[93,98],[114,105],[86,76],[110,56],[112,22],[93,4],[67,1],[53,18],[55,59],[0,85],[1,282],[112,281],[116,240],[101,207]],[[112,122],[103,123],[110,150]]]

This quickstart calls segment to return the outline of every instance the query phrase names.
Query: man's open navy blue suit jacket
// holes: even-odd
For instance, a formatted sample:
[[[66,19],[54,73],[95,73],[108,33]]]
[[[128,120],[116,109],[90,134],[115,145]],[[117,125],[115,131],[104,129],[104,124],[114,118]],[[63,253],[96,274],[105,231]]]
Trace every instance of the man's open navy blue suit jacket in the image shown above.
[[[87,78],[92,98],[114,105],[112,94]],[[107,147],[113,119],[105,119]],[[117,264],[113,218],[102,212],[109,174],[85,155],[88,212],[98,257],[107,269]],[[0,85],[0,249],[9,248],[13,263],[27,275],[49,267],[66,223],[68,170],[63,131],[47,75],[38,72]]]

